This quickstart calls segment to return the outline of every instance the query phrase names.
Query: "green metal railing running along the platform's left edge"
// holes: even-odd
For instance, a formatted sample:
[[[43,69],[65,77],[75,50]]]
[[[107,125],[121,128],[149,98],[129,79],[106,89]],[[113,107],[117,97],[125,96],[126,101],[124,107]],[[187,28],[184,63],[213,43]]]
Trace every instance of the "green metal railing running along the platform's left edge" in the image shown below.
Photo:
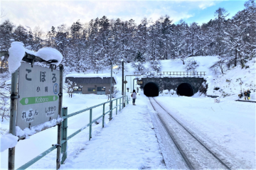
[[[39,154],[37,157],[35,157],[34,159],[32,159],[31,161],[27,162],[26,164],[23,164],[23,166],[20,166],[18,169],[27,169],[29,166],[31,166],[32,164],[36,163],[39,159],[43,158],[46,156],[46,154],[49,154],[50,152],[52,152],[54,149],[56,149],[57,147],[61,147],[61,154],[62,154],[62,159],[60,161],[60,164],[64,164],[65,159],[67,158],[67,145],[68,145],[68,140],[70,140],[72,137],[74,137],[75,135],[77,135],[79,132],[81,132],[82,130],[84,130],[85,128],[89,127],[89,140],[90,138],[92,138],[92,123],[95,123],[97,120],[99,120],[100,118],[102,118],[102,128],[104,128],[104,121],[105,121],[105,115],[107,113],[110,113],[110,120],[112,120],[112,111],[114,109],[116,109],[116,115],[117,115],[117,108],[119,106],[119,111],[121,111],[121,108],[123,109],[125,105],[129,104],[128,101],[128,97],[124,97],[124,105],[121,102],[122,97],[120,98],[115,98],[112,101],[107,101],[105,103],[100,103],[96,106],[92,106],[90,108],[85,108],[81,111],[77,111],[75,113],[71,113],[68,115],[68,108],[62,108],[61,111],[61,117],[63,118],[63,122],[61,123],[61,132],[60,132],[60,137],[61,137],[61,142],[60,142],[60,146],[58,145],[53,145],[53,147],[50,147],[49,149],[47,149],[45,152]],[[117,101],[119,99],[119,104],[117,104]],[[113,102],[116,101],[116,106],[113,108]],[[107,103],[110,103],[110,110],[105,112],[105,105]],[[103,106],[103,111],[102,111],[102,115],[100,115],[98,118],[96,118],[95,120],[92,120],[92,108],[97,108],[99,106]],[[121,107],[122,106],[122,107]],[[80,113],[83,113],[85,111],[90,111],[90,123],[88,123],[87,125],[85,125],[84,127],[80,128],[80,130],[77,130],[76,132],[74,132],[72,135],[68,136],[68,118],[74,116],[74,115],[78,115]],[[56,168],[58,169],[58,167]]]

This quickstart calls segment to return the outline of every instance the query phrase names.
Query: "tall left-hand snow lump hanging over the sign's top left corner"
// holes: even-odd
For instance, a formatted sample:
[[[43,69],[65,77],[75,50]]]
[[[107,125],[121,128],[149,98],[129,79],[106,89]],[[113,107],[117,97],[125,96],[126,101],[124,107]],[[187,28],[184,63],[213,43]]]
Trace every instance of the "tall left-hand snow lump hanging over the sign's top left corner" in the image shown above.
[[[25,55],[25,49],[22,42],[11,42],[11,47],[9,48],[9,58],[8,66],[9,72],[12,74],[21,66],[21,60]]]

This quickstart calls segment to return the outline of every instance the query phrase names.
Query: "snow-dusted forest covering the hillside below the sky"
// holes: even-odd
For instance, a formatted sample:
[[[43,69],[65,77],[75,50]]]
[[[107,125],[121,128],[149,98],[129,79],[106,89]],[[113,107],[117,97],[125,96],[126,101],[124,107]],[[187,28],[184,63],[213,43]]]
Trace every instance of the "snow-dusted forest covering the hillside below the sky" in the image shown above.
[[[220,60],[213,67],[245,67],[247,60],[256,57],[255,1],[245,1],[245,8],[232,18],[225,8],[214,14],[201,26],[183,20],[174,24],[171,16],[157,21],[144,18],[138,26],[133,19],[102,16],[85,24],[78,20],[72,26],[52,26],[47,33],[6,20],[0,24],[0,51],[7,51],[13,41],[33,51],[53,47],[63,55],[65,72],[98,72],[121,60],[132,62],[137,71],[144,71],[144,62],[151,64],[149,71],[160,71],[159,60],[180,59],[185,64],[186,57],[199,55],[218,55]],[[1,60],[3,67],[7,57]]]

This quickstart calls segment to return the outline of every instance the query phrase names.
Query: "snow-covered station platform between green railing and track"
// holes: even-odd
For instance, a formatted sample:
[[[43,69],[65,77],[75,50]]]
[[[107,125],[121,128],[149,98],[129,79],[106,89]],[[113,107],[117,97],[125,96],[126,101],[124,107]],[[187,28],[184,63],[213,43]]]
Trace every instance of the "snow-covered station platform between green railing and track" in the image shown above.
[[[148,106],[141,97],[136,106],[129,101],[60,169],[166,169]]]

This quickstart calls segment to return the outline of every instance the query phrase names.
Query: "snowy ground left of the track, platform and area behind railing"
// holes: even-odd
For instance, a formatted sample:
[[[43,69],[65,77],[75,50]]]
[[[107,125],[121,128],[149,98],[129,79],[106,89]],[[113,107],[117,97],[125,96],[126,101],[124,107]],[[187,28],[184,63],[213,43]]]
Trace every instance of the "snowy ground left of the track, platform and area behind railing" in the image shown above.
[[[140,96],[138,97],[140,98]],[[81,109],[103,103],[106,96],[94,94],[75,94],[73,98],[64,97],[63,105],[68,111]],[[101,102],[99,102],[101,101]],[[165,164],[151,124],[149,110],[144,101],[137,106],[128,105],[107,123],[102,129],[101,120],[92,126],[92,139],[88,141],[88,130],[83,130],[68,141],[68,159],[61,169],[165,169]],[[69,112],[70,113],[70,112]],[[97,117],[102,108],[92,111]],[[94,114],[95,113],[95,114]],[[115,112],[113,112],[115,113]],[[105,120],[107,120],[106,115]],[[88,113],[68,119],[68,135],[82,128],[88,122]],[[7,126],[8,123],[2,123]],[[56,142],[56,128],[50,128],[20,140],[16,145],[16,168],[45,151]],[[33,169],[54,169],[55,151],[33,164]],[[7,168],[8,150],[1,152],[1,169]]]

